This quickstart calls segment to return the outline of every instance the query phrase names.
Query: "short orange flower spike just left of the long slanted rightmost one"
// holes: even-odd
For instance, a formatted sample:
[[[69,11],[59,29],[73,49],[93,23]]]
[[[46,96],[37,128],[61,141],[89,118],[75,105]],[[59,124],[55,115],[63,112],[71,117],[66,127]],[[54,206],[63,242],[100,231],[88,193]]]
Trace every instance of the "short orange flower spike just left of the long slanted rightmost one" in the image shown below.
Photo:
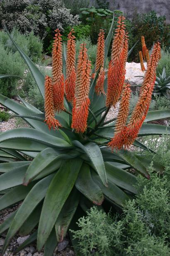
[[[121,149],[126,142],[126,121],[129,114],[129,101],[131,97],[130,85],[127,83],[123,89],[117,122],[115,125],[115,134],[108,146],[115,149]]]

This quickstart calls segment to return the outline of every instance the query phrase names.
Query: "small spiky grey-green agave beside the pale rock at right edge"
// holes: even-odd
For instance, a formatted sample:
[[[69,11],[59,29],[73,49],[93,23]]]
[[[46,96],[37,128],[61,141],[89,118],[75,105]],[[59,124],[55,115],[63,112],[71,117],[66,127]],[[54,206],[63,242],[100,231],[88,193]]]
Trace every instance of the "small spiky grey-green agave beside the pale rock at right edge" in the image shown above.
[[[153,95],[163,95],[170,98],[167,93],[168,90],[170,90],[170,77],[166,77],[165,67],[163,67],[162,75],[158,72],[158,76],[156,77]]]

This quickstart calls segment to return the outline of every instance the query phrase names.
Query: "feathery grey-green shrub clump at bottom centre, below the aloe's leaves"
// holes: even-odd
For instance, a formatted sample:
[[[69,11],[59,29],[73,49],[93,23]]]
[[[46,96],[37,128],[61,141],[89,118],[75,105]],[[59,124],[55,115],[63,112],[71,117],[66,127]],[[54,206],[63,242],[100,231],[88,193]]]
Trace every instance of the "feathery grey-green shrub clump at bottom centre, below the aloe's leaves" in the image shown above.
[[[98,211],[96,207],[87,212],[87,216],[78,220],[78,231],[72,231],[74,238],[79,239],[79,248],[83,256],[95,255],[111,256],[119,255],[122,242],[122,224],[114,223],[111,216],[105,212]],[[116,254],[113,254],[114,253]]]

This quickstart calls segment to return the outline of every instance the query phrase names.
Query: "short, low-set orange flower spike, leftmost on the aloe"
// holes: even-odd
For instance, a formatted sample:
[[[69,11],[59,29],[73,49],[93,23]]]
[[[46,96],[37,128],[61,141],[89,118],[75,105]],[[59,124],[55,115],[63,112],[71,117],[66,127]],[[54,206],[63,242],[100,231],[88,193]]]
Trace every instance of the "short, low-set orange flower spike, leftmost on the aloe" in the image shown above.
[[[45,77],[45,120],[49,126],[49,129],[53,127],[53,129],[58,129],[61,124],[58,122],[58,120],[55,119],[54,115],[54,103],[53,103],[53,85],[51,77],[46,76]]]

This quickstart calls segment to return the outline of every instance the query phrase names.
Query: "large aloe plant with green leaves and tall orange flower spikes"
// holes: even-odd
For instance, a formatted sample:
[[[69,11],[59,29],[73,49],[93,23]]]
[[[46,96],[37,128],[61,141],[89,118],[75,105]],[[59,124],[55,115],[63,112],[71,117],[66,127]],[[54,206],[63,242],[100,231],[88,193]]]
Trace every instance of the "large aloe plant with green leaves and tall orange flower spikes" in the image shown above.
[[[139,101],[130,115],[131,90],[128,84],[124,85],[128,36],[123,17],[119,17],[114,35],[107,76],[104,70],[113,22],[105,41],[104,32],[100,31],[92,74],[85,44],[81,45],[75,69],[73,30],[63,56],[61,35],[56,30],[52,78],[44,78],[10,37],[45,99],[45,114],[24,99],[19,104],[0,95],[0,104],[31,127],[0,134],[0,210],[23,201],[0,225],[0,233],[8,230],[2,255],[17,232],[21,236],[31,233],[17,251],[37,240],[38,251],[44,246],[44,255],[53,255],[57,242],[85,214],[82,211],[93,205],[103,210],[121,208],[136,194],[136,176],[128,168],[149,179],[150,160],[126,148],[133,144],[151,150],[137,137],[167,132],[165,126],[146,123],[170,117],[168,111],[148,112],[160,45],[153,47]],[[105,122],[110,107],[120,96],[117,119]],[[163,172],[160,164],[153,165],[156,171]]]

